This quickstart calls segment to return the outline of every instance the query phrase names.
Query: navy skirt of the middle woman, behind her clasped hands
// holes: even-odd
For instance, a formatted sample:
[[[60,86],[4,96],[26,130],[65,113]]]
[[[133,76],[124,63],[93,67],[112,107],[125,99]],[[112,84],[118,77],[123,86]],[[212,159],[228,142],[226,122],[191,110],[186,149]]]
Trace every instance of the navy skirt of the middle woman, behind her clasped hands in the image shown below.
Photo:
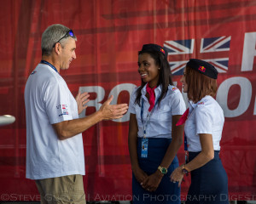
[[[148,139],[148,157],[142,158],[142,139],[137,139],[138,162],[145,173],[150,175],[157,170],[171,142],[172,139]],[[174,184],[170,180],[170,175],[176,167],[178,167],[177,156],[175,156],[172,164],[168,168],[168,172],[162,178],[159,187],[154,192],[144,190],[132,173],[132,203],[181,203],[180,188],[177,187],[177,183]]]

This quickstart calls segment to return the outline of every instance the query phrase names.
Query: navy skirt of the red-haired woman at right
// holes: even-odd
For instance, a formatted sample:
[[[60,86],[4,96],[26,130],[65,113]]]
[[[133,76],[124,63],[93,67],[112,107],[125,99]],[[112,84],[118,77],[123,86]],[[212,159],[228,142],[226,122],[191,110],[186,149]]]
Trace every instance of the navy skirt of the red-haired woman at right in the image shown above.
[[[200,152],[189,152],[189,161]],[[203,167],[191,171],[191,184],[186,204],[229,204],[228,177],[218,156]]]

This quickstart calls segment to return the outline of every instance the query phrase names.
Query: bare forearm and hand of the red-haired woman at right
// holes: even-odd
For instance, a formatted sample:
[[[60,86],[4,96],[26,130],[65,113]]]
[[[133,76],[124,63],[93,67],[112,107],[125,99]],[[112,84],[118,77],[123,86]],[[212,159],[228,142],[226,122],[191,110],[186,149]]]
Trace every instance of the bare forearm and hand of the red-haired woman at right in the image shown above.
[[[186,169],[189,172],[204,166],[207,162],[211,161],[214,158],[212,134],[200,133],[199,137],[201,142],[201,153],[199,153],[198,156],[195,156],[192,161],[189,161],[189,163],[185,165]],[[181,184],[183,179],[182,168],[183,165],[177,167],[171,175],[171,181],[177,181],[179,182],[179,185]]]

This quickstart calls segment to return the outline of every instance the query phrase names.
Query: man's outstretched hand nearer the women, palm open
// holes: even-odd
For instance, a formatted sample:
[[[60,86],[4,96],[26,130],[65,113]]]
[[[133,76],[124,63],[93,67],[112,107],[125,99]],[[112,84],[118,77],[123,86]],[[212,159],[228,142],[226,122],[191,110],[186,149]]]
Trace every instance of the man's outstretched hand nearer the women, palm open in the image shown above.
[[[127,104],[120,105],[110,105],[110,102],[113,99],[113,95],[108,98],[108,100],[100,108],[102,112],[102,120],[112,120],[118,119],[125,115],[128,110]]]

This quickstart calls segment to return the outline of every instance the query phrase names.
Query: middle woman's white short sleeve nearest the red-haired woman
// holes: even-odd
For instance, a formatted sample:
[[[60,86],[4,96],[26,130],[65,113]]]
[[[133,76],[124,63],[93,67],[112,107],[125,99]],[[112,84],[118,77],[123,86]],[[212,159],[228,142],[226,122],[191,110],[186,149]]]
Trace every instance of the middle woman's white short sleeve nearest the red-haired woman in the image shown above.
[[[172,116],[183,115],[184,111],[186,111],[186,105],[183,100],[183,95],[178,89],[176,89],[174,93],[172,93],[171,108]]]

